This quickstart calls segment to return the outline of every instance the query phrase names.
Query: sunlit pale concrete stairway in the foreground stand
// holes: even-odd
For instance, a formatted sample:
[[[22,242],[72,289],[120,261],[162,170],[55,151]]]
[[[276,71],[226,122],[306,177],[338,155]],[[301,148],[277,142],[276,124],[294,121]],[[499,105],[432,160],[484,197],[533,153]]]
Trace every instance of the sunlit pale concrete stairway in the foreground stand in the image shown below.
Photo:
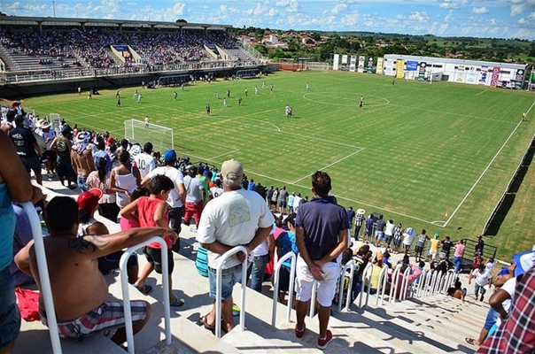
[[[49,182],[50,183],[50,182]],[[47,184],[49,184],[47,183]],[[63,189],[52,182],[49,199]],[[67,189],[68,192],[71,192]],[[107,222],[106,222],[107,223]],[[116,224],[108,223],[111,232],[118,230]],[[375,296],[370,296],[368,307],[356,305],[350,312],[337,312],[333,306],[330,330],[334,339],[326,350],[316,348],[318,319],[306,318],[306,335],[297,339],[294,335],[295,312],[287,322],[286,308],[277,304],[276,326],[271,326],[272,290],[264,283],[263,294],[247,289],[245,331],[236,327],[221,339],[198,324],[201,315],[210,311],[213,300],[208,296],[208,280],[197,273],[195,234],[182,226],[181,254],[174,254],[174,294],[183,297],[186,304],[171,311],[172,344],[164,342],[165,330],[163,304],[161,304],[161,276],[152,273],[148,283],[153,291],[143,296],[130,288],[132,299],[145,299],[153,306],[153,315],[143,330],[135,336],[136,353],[471,353],[475,347],[464,341],[466,336],[476,337],[483,326],[488,304],[477,302],[468,296],[464,304],[444,295],[413,298],[403,302],[375,305]],[[139,257],[140,268],[145,259]],[[108,276],[113,298],[122,298],[117,274]],[[471,290],[471,289],[470,289]],[[234,302],[239,304],[240,287],[235,287]],[[358,300],[355,301],[358,304]],[[65,353],[78,352],[124,352],[103,336],[95,336],[84,342],[62,341]],[[24,322],[14,353],[50,353],[50,337],[40,322]]]

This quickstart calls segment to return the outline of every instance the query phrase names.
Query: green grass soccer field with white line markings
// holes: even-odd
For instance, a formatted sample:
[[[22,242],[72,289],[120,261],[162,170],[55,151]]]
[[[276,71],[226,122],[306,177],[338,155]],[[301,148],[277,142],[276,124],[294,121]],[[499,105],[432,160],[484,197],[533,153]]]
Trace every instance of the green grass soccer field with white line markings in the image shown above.
[[[135,89],[143,94],[140,103]],[[93,100],[73,93],[24,104],[41,116],[60,113],[71,126],[117,137],[124,135],[124,120],[148,115],[151,123],[174,128],[179,156],[213,165],[236,158],[249,179],[303,195],[311,196],[309,176],[324,170],[338,203],[453,239],[481,233],[535,133],[532,93],[450,82],[392,85],[392,78],[371,74],[280,72],[202,82],[184,92],[125,88],[121,107],[116,90],[100,93]],[[521,121],[523,111],[528,121]]]

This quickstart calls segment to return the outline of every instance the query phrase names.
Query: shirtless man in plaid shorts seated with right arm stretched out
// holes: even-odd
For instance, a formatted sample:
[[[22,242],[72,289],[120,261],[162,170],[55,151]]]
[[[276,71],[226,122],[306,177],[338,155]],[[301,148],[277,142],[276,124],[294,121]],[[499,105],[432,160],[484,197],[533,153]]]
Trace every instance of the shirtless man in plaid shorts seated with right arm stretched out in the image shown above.
[[[54,289],[54,307],[60,336],[81,339],[83,335],[99,332],[110,336],[113,342],[125,342],[122,301],[106,301],[108,284],[104,275],[98,271],[97,258],[147,241],[153,235],[168,236],[172,242],[176,241],[176,235],[160,227],[143,227],[113,235],[76,237],[78,205],[73,198],[54,197],[48,204],[47,212],[50,236],[43,241],[49,264],[50,285]],[[28,243],[19,251],[15,262],[21,270],[33,274],[41,289],[34,242]],[[48,326],[41,294],[42,292],[39,296],[39,312],[43,324]],[[151,304],[140,300],[132,301],[131,309],[136,334],[151,318]]]

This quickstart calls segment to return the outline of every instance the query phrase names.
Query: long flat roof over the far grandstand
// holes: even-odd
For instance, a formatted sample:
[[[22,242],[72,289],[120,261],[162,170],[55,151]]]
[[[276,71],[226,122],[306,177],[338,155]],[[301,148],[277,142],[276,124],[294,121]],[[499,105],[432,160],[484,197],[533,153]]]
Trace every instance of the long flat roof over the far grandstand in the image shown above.
[[[155,28],[184,28],[184,29],[228,29],[231,25],[215,25],[206,23],[190,22],[164,22],[164,21],[141,21],[133,19],[74,19],[57,17],[22,17],[22,16],[0,16],[0,25],[19,26],[73,26],[81,25],[92,27],[155,27]]]

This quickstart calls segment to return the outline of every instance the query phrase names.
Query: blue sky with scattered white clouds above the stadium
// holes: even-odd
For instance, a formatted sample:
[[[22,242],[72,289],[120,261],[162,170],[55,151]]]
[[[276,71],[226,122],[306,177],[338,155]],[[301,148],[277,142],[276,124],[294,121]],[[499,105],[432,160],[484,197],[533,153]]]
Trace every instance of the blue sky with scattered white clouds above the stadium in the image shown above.
[[[0,0],[0,12],[535,40],[535,0]]]

